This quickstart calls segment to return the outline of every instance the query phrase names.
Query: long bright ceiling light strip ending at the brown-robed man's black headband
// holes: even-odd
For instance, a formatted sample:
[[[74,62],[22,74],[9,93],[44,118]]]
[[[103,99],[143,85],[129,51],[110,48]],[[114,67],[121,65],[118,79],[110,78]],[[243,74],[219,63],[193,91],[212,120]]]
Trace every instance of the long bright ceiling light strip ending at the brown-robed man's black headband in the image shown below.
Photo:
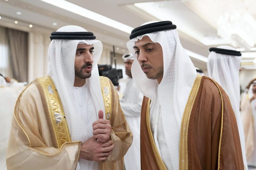
[[[76,14],[81,15],[83,17],[92,19],[94,21],[100,22],[100,23],[105,24],[107,26],[111,26],[113,28],[124,31],[126,33],[131,33],[131,31],[133,30],[133,28],[131,26],[125,25],[125,24],[123,24],[121,22],[118,22],[114,19],[105,17],[105,16],[100,15],[96,12],[87,10],[87,9],[81,7],[81,6],[78,6],[76,4],[70,3],[70,2],[65,1],[65,0],[54,0],[54,1],[52,1],[52,0],[41,0],[41,1],[44,1],[48,4],[52,4],[54,6],[62,8],[64,10],[76,13]]]

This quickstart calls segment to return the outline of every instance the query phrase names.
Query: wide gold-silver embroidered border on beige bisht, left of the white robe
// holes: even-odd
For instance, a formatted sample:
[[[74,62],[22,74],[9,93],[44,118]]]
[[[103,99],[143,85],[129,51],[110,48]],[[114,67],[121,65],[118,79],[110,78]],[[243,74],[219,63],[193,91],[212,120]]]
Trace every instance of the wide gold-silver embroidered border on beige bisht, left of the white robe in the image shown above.
[[[50,76],[36,78],[36,80],[44,91],[54,136],[60,148],[64,143],[71,142],[71,138],[59,94]]]

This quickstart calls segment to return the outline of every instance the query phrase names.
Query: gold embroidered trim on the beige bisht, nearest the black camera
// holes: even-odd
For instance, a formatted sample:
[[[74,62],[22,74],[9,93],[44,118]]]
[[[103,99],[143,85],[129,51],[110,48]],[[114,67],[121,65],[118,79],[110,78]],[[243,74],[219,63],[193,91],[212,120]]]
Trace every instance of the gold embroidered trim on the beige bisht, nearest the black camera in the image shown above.
[[[111,87],[108,81],[108,78],[100,76],[100,85],[101,85],[101,92],[104,101],[105,107],[105,116],[107,120],[111,120],[111,99],[112,99],[112,92]]]

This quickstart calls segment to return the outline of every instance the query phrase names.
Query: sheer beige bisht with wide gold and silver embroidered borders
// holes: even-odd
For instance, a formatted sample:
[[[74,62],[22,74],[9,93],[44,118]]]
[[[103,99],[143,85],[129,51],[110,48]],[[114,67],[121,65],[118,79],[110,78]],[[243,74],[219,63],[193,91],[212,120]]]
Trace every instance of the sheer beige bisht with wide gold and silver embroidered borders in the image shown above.
[[[132,133],[113,84],[105,77],[100,77],[100,82],[115,148],[106,161],[99,162],[99,169],[121,170],[124,169],[124,154],[132,144]],[[104,93],[106,89],[108,94]],[[81,144],[81,141],[70,139],[65,113],[52,79],[45,76],[32,81],[21,92],[14,108],[7,168],[73,170],[77,166]]]

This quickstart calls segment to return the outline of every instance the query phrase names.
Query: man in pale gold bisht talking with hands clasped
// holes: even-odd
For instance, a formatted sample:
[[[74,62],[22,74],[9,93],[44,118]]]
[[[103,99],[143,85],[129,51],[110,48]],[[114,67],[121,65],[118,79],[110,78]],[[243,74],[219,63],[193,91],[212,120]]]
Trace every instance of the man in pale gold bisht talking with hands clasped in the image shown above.
[[[102,43],[79,26],[50,38],[48,76],[33,80],[14,108],[7,168],[124,169],[132,133],[114,86],[99,76]]]

